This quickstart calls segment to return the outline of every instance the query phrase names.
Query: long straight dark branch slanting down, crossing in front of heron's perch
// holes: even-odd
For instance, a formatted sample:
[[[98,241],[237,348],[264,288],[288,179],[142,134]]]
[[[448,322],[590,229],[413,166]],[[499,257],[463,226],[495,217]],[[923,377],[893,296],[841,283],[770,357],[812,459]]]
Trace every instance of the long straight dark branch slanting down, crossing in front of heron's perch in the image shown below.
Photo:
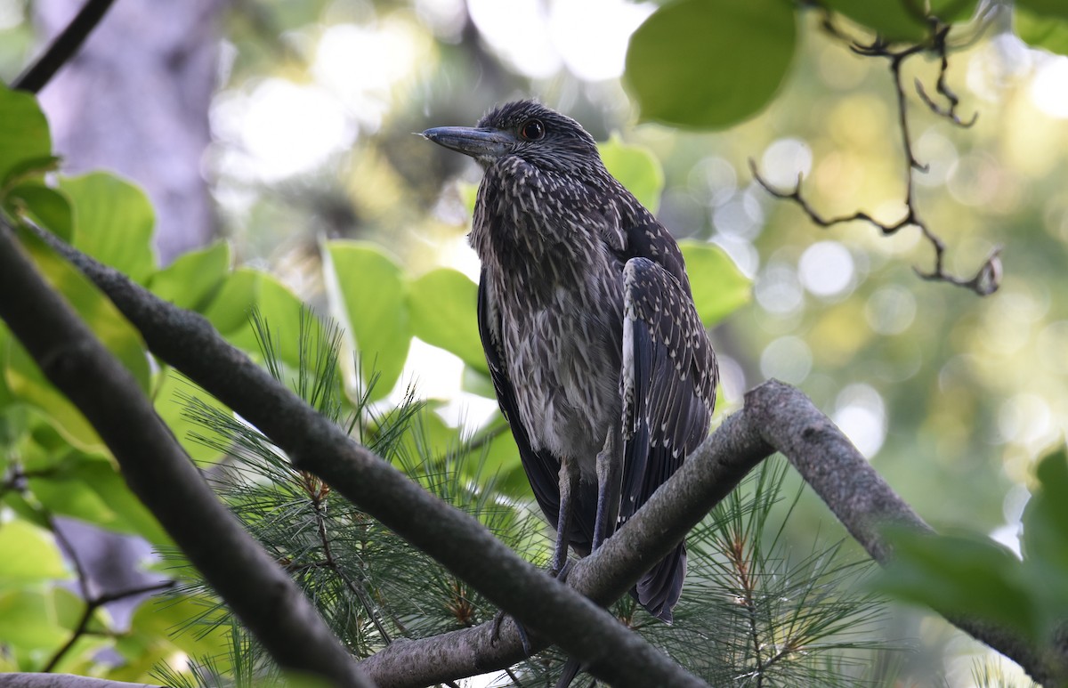
[[[570,656],[582,659],[591,674],[619,686],[705,686],[608,611],[521,559],[476,519],[440,501],[356,443],[226,343],[202,316],[160,300],[54,235],[44,231],[38,235],[111,298],[141,331],[153,354],[260,428],[298,470],[315,473],[514,615],[529,631],[551,638]],[[656,537],[674,537],[677,543],[685,533],[685,528],[675,528]],[[650,547],[648,551],[662,553],[647,554],[647,564],[629,578],[615,574],[616,596],[668,548]],[[230,601],[225,594],[223,598]],[[502,628],[501,641],[520,646],[513,623]],[[405,643],[398,640],[390,646]],[[520,658],[521,651],[513,661]],[[396,685],[388,676],[376,674],[376,679]]]

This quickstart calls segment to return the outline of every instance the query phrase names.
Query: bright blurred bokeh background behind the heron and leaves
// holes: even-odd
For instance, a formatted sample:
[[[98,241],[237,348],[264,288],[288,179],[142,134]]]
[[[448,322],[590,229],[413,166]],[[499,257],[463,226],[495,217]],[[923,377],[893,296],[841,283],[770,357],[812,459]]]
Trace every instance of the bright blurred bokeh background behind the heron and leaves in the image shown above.
[[[79,4],[0,0],[0,77]],[[447,266],[476,279],[466,233],[478,170],[413,132],[538,97],[598,140],[647,148],[662,166],[661,220],[722,247],[752,279],[752,300],[712,332],[718,415],[767,378],[796,385],[930,523],[1017,547],[1034,463],[1068,427],[1068,58],[1030,48],[993,12],[951,54],[948,82],[974,126],[910,92],[915,154],[929,166],[916,206],[948,247],[947,270],[970,275],[1004,247],[1001,290],[977,297],[917,278],[932,251],[914,228],[819,229],[752,178],[750,160],[784,188],[803,175],[827,216],[899,219],[906,167],[886,61],[854,54],[811,16],[756,116],[716,132],[641,122],[622,76],[655,7],[122,0],[43,103],[67,171],[115,170],[147,190],[164,262],[223,237],[239,264],[323,306],[324,238],[373,241],[414,275]],[[905,82],[937,74],[910,61]],[[443,422],[473,431],[496,404],[462,377],[458,358],[415,340],[391,398],[414,382],[442,401]],[[811,494],[788,533],[801,547],[843,536]],[[974,642],[918,612],[894,620],[889,636],[921,639],[932,671],[971,685]]]

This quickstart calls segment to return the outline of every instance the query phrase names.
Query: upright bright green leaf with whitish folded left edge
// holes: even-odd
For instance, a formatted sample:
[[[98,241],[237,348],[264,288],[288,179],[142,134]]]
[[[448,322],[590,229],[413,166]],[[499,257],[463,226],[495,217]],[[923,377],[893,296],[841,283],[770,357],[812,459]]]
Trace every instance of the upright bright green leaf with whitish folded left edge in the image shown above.
[[[374,244],[328,241],[324,249],[331,312],[355,341],[363,382],[380,376],[372,398],[381,398],[400,377],[411,344],[404,275]]]

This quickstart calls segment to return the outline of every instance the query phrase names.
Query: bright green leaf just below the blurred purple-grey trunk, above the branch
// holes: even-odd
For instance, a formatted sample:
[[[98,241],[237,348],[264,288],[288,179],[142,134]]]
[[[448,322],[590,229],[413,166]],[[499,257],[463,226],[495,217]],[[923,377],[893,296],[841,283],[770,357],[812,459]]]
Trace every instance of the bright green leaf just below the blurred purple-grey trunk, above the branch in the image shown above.
[[[144,192],[103,172],[60,179],[60,189],[74,204],[74,247],[144,284],[156,270],[156,216]]]

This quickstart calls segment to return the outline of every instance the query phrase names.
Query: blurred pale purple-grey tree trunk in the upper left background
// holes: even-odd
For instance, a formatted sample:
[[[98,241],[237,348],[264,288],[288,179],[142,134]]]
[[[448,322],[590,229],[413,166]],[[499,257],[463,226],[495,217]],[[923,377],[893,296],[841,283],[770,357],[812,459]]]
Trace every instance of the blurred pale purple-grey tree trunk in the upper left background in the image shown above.
[[[83,0],[37,0],[50,41]],[[134,179],[156,208],[163,264],[215,233],[201,158],[218,74],[225,0],[119,0],[42,93],[63,170],[108,169]]]

